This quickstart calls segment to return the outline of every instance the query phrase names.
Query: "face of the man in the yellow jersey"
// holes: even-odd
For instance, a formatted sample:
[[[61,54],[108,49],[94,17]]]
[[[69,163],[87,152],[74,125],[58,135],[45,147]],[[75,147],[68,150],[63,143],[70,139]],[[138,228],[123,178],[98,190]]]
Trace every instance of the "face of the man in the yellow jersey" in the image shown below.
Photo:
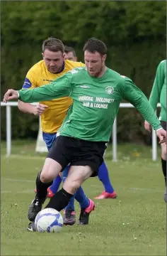
[[[53,52],[45,49],[42,56],[45,61],[45,65],[47,66],[47,70],[50,71],[50,73],[56,74],[62,70],[64,54],[61,51]]]

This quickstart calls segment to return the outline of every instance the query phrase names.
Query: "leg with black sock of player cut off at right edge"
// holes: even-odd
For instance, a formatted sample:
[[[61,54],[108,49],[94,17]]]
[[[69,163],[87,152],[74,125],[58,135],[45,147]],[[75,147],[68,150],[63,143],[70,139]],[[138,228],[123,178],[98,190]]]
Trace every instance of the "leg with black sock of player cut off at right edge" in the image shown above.
[[[161,127],[166,130],[167,122],[161,121]],[[166,152],[166,144],[161,144],[161,166],[163,171],[163,176],[165,179],[165,185],[166,185],[166,160],[167,160],[167,152]],[[164,193],[164,200],[167,203],[167,194],[166,191]]]

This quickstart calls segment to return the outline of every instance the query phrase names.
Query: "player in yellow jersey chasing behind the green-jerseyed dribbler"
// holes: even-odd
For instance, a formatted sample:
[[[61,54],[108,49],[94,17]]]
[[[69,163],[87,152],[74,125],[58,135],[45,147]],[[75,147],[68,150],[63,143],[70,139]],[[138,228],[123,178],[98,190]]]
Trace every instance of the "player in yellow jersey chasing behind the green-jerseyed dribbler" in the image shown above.
[[[28,71],[23,84],[23,89],[32,89],[46,85],[52,82],[52,80],[61,77],[69,70],[84,66],[81,62],[73,62],[64,59],[64,45],[62,41],[57,38],[48,38],[43,42],[42,57],[43,60],[40,60],[33,65]],[[18,101],[18,108],[25,113],[41,115],[42,136],[49,151],[54,144],[57,137],[57,130],[62,125],[71,103],[72,100],[70,97],[62,97],[57,100],[40,102],[37,106]],[[63,171],[63,179],[67,176],[68,171],[69,167],[67,166]],[[56,182],[54,182],[54,186],[57,190],[61,182],[61,176],[57,176]],[[87,198],[81,187],[76,193],[76,200],[79,200],[80,202],[82,215],[85,213],[84,210],[88,212],[88,210],[92,209],[94,206],[93,201]],[[35,204],[38,208],[38,201],[35,202]],[[71,198],[67,209],[64,210],[63,218],[64,224],[66,225],[74,225],[76,222],[74,197]],[[84,224],[84,219],[80,219],[80,224]]]

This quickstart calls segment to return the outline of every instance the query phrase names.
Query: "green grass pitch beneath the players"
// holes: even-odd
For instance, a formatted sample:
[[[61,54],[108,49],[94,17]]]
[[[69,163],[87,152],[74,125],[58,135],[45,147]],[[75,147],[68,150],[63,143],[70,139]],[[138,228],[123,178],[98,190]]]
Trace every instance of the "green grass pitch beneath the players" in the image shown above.
[[[27,209],[33,200],[35,177],[45,154],[35,154],[35,142],[13,142],[12,155],[1,144],[1,255],[166,255],[166,204],[160,161],[151,148],[118,146],[120,161],[105,154],[117,199],[96,200],[88,226],[77,224],[61,233],[28,233]],[[103,186],[89,178],[90,198]],[[79,205],[76,203],[77,218]]]

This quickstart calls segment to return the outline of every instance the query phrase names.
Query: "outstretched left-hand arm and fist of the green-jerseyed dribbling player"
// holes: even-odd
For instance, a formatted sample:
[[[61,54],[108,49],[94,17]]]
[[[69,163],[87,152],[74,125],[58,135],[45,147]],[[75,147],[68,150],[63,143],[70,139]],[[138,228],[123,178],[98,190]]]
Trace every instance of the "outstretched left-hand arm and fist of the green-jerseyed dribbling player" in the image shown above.
[[[4,95],[4,102],[18,99],[23,102],[33,103],[70,96],[72,92],[71,77],[72,74],[67,73],[54,80],[50,85],[43,85],[32,90],[8,90]]]

